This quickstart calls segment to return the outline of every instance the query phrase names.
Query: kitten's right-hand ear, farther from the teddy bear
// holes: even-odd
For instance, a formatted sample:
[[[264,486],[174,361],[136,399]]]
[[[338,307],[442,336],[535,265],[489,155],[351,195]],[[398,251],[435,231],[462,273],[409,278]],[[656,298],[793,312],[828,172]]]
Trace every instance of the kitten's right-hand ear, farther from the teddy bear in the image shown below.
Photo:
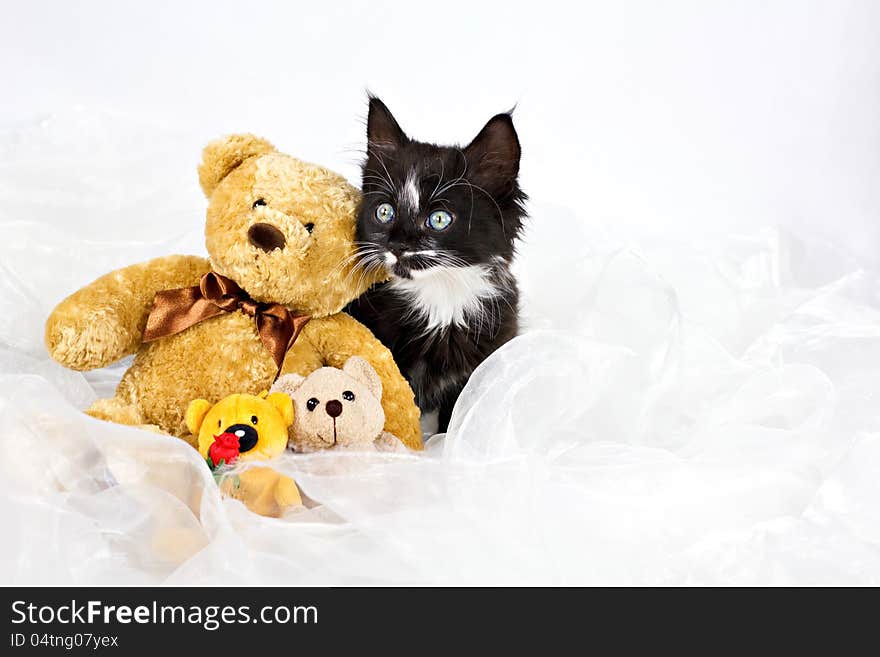
[[[496,114],[464,149],[470,177],[492,193],[503,193],[519,175],[519,138],[509,113]]]

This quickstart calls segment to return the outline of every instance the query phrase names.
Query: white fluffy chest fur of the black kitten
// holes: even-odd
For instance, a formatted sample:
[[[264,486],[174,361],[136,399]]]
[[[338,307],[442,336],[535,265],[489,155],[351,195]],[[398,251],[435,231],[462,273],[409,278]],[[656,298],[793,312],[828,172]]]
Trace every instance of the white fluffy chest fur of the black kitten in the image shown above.
[[[466,326],[469,318],[485,312],[487,299],[499,294],[491,270],[479,265],[414,270],[412,278],[393,278],[389,287],[406,298],[427,324],[426,331]]]

